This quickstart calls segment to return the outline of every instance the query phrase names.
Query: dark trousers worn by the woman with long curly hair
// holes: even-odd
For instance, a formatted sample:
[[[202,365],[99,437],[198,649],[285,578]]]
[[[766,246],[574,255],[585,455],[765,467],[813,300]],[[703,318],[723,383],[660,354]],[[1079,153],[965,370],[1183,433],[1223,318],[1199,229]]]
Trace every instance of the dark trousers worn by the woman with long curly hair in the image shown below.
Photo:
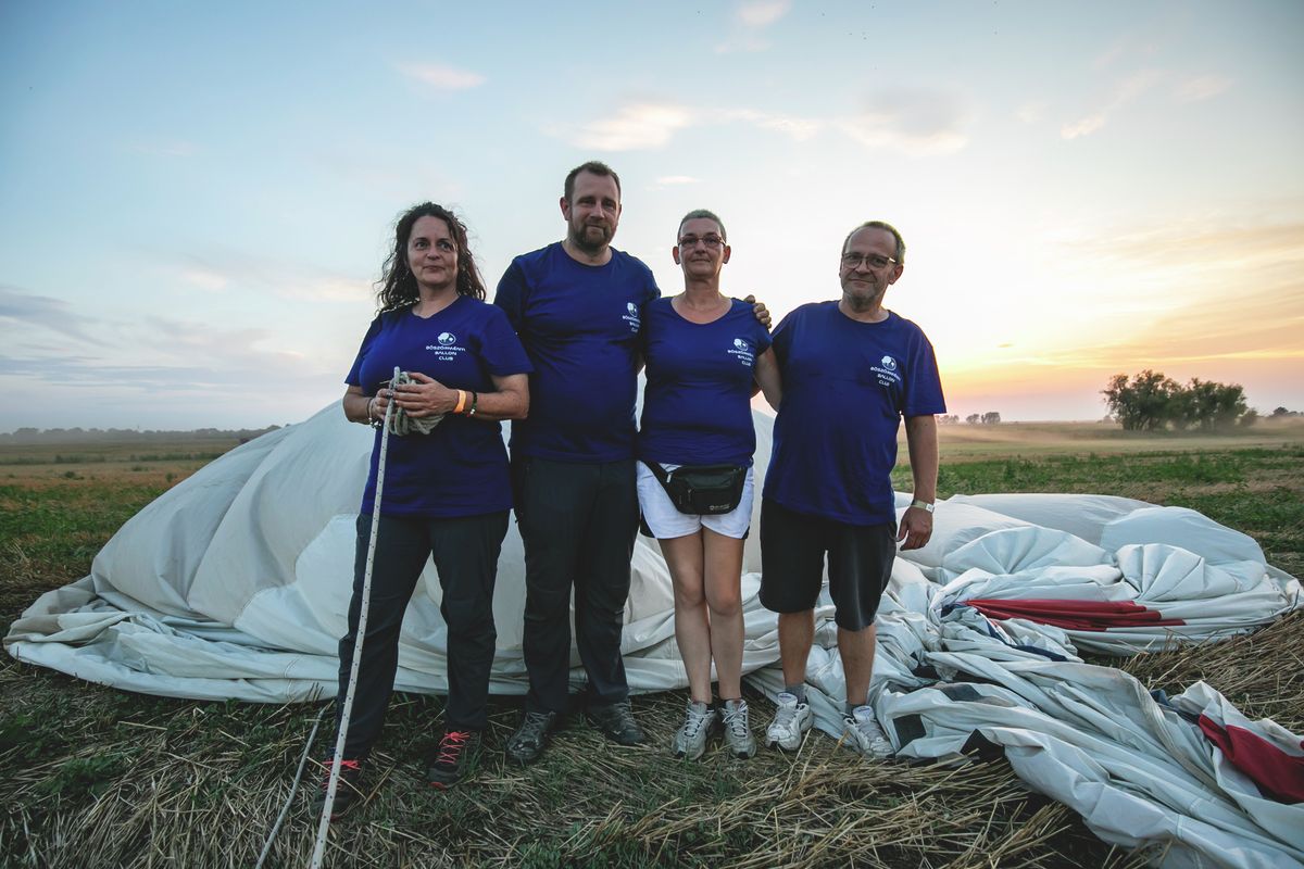
[[[372,517],[357,517],[357,554],[353,559],[353,599],[348,605],[348,633],[339,641],[339,696],[335,732],[343,714],[348,672],[353,664],[357,619],[363,608],[363,578]],[[357,689],[349,714],[347,760],[361,760],[372,749],[385,723],[385,707],[394,692],[399,666],[399,631],[412,590],[434,558],[443,603],[439,614],[449,628],[449,730],[484,730],[488,723],[489,668],[494,641],[493,584],[498,552],[507,535],[507,511],[458,519],[381,516],[372,564],[372,594],[366,612],[366,638],[359,663]]]

